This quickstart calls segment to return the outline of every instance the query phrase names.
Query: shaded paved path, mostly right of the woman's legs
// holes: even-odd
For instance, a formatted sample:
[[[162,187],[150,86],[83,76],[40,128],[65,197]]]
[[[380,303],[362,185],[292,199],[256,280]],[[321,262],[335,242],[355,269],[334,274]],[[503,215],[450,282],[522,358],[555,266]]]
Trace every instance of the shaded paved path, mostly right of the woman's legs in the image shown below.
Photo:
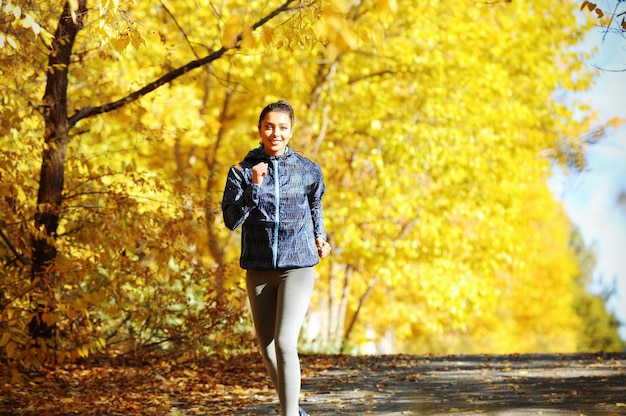
[[[626,415],[626,354],[302,357],[315,415]],[[269,393],[268,393],[269,394]],[[260,399],[236,415],[277,415]]]

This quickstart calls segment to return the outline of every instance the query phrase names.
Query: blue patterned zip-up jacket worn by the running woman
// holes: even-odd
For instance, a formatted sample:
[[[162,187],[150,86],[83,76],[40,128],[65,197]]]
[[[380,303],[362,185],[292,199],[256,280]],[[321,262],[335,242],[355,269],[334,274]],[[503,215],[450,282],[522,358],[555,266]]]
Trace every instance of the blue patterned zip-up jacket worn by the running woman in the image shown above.
[[[262,185],[252,183],[252,167],[268,163]],[[251,150],[228,172],[222,213],[226,226],[242,226],[243,269],[290,269],[319,263],[315,239],[323,237],[324,179],[319,165],[287,147],[268,156]]]

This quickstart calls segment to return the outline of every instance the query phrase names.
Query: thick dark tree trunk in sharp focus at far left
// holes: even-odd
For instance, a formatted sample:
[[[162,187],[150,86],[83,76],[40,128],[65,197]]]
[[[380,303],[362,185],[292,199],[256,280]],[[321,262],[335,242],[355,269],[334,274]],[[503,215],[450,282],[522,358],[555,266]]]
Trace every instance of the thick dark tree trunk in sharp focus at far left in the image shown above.
[[[54,240],[63,202],[63,170],[70,128],[67,117],[67,74],[74,41],[87,10],[86,3],[86,0],[78,1],[78,9],[74,13],[69,2],[65,3],[48,57],[48,79],[43,96],[45,144],[32,239],[31,281],[37,287],[33,296],[37,313],[29,324],[32,338],[50,339],[55,332],[52,311],[58,275],[55,270],[57,250]]]

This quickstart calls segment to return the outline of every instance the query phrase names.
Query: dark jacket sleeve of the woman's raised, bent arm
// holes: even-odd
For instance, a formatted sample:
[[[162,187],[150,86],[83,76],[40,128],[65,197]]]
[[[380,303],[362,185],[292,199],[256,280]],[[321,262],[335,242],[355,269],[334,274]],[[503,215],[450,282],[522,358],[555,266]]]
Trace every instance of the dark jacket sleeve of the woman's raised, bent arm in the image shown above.
[[[239,166],[230,168],[222,197],[222,215],[226,227],[235,230],[244,223],[250,211],[258,205],[258,188],[258,185],[248,183]]]

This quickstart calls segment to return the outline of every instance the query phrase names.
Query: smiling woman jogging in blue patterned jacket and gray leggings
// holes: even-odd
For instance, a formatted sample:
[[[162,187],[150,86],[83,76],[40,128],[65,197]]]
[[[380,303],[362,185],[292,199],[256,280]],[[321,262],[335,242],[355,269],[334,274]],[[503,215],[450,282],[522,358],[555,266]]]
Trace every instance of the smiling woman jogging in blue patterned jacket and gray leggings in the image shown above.
[[[242,226],[240,265],[261,353],[282,416],[299,407],[298,336],[313,293],[313,266],[330,254],[324,231],[324,180],[316,163],[288,147],[293,108],[269,104],[259,117],[261,145],[228,172],[222,212]]]

